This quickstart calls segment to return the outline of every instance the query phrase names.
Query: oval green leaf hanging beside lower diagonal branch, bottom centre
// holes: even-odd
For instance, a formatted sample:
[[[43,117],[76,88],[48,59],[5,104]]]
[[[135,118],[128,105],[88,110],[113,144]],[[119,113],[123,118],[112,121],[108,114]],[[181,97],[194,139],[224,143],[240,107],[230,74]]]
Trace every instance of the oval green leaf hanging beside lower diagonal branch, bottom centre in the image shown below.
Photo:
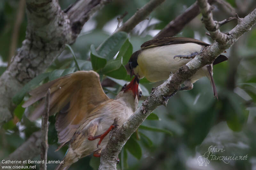
[[[141,148],[138,142],[133,138],[130,137],[130,139],[126,142],[124,145],[125,149],[127,149],[135,158],[140,159],[142,156]]]

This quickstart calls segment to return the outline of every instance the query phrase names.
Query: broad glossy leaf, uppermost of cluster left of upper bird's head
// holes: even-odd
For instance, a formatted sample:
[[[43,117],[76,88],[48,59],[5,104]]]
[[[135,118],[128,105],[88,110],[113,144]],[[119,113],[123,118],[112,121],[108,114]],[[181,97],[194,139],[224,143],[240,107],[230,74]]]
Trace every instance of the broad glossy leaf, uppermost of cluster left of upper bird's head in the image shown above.
[[[127,37],[127,33],[125,32],[114,33],[100,45],[98,54],[107,59],[107,61],[113,59]]]

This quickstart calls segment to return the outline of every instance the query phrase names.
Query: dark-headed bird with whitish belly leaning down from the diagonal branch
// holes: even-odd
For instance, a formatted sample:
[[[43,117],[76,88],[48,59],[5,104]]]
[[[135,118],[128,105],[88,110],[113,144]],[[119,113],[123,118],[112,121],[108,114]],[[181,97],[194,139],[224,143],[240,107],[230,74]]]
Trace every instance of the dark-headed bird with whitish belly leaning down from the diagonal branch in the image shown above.
[[[144,42],[140,50],[134,52],[128,62],[131,77],[139,79],[146,77],[150,82],[166,80],[182,65],[198,55],[203,47],[209,46],[203,41],[186,37],[163,37]],[[214,97],[218,99],[216,85],[213,80],[212,66],[228,60],[225,55],[219,55],[213,63],[199,69],[190,79],[184,82],[179,90],[193,89],[193,83],[202,77],[207,77],[212,85]]]

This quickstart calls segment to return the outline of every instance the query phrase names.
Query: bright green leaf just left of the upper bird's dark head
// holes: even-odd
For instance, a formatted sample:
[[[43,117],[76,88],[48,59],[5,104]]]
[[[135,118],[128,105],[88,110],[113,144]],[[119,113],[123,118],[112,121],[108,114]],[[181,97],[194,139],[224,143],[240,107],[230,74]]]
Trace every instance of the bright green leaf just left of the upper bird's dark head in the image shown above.
[[[132,44],[129,39],[126,39],[123,46],[119,50],[119,53],[116,58],[123,58],[122,64],[126,65],[132,55]]]

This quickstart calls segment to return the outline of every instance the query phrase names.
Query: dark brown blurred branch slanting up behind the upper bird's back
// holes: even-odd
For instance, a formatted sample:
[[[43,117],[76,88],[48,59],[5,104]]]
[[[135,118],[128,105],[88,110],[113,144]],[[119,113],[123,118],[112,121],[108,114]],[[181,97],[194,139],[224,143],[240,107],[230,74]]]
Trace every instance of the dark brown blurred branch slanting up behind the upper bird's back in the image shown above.
[[[215,0],[208,0],[210,4],[215,2]],[[197,2],[192,4],[188,9],[186,9],[182,14],[172,20],[168,25],[166,25],[155,37],[162,38],[162,37],[172,37],[179,33],[186,24],[188,24],[192,19],[194,19],[198,14],[199,6]]]

